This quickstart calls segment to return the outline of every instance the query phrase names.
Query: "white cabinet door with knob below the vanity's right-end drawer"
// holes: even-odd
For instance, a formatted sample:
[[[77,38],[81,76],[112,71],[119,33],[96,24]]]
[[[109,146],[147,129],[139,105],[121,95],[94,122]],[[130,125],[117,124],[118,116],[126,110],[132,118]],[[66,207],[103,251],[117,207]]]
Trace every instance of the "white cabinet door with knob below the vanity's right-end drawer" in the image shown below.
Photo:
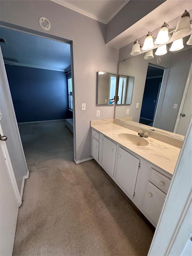
[[[166,194],[148,181],[142,210],[156,227],[165,202]]]

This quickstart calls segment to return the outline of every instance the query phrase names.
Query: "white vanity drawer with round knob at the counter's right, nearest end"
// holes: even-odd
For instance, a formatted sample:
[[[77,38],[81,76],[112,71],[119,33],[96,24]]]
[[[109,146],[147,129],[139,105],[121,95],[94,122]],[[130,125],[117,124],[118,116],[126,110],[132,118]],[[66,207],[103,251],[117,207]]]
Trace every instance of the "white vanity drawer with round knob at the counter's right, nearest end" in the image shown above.
[[[171,180],[151,168],[149,180],[167,194]]]

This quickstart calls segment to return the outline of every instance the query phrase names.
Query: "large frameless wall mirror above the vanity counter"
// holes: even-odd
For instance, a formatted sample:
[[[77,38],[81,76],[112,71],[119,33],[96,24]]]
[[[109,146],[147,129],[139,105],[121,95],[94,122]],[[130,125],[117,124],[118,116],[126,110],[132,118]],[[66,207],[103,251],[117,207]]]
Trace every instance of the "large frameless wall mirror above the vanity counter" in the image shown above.
[[[154,49],[151,59],[144,59],[143,53],[119,63],[120,77],[134,79],[129,85],[132,100],[128,105],[116,102],[115,119],[184,139],[192,115],[192,49],[186,44],[188,39],[183,38],[184,48],[179,51],[170,51],[171,44],[167,44],[164,55],[155,55]]]

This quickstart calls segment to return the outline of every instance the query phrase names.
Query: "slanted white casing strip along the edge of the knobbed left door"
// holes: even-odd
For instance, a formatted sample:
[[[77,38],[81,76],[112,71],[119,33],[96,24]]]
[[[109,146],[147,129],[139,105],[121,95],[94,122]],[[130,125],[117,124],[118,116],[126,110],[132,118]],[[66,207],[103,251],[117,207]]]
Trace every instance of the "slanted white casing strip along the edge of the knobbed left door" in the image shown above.
[[[3,134],[1,125],[0,125],[0,134]],[[11,178],[11,182],[12,182],[12,185],[13,185],[13,189],[15,191],[15,196],[16,196],[16,199],[17,199],[17,203],[18,203],[19,206],[21,206],[22,199],[21,199],[21,196],[20,196],[20,193],[19,193],[19,189],[18,189],[18,186],[17,186],[16,179],[15,179],[15,174],[14,174],[13,167],[12,167],[12,164],[11,164],[11,160],[10,160],[10,157],[9,157],[9,152],[8,152],[8,149],[7,149],[6,142],[1,142],[1,146],[2,146],[3,153],[6,157],[6,163],[7,163],[9,175],[10,175],[10,178]]]

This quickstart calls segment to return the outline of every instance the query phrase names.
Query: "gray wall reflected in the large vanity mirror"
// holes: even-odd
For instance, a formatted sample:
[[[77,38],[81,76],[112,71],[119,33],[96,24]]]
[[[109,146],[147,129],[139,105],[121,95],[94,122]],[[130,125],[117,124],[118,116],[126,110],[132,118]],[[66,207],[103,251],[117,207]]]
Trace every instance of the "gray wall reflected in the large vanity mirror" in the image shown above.
[[[157,64],[158,56],[154,55],[154,58],[148,61],[143,59],[145,54],[120,62],[119,74],[134,76],[135,80],[131,105],[117,106],[115,118],[130,116],[133,117],[133,121],[139,122],[147,67],[149,63],[152,63],[167,69],[169,68],[165,97],[160,106],[161,113],[158,116],[159,125],[156,128],[173,132],[191,65],[191,54],[191,49],[177,53],[168,52],[166,55],[160,56],[160,64]],[[139,102],[139,108],[136,109],[137,102]],[[178,104],[177,109],[173,109],[174,103]],[[127,108],[130,109],[129,115],[126,115]]]

